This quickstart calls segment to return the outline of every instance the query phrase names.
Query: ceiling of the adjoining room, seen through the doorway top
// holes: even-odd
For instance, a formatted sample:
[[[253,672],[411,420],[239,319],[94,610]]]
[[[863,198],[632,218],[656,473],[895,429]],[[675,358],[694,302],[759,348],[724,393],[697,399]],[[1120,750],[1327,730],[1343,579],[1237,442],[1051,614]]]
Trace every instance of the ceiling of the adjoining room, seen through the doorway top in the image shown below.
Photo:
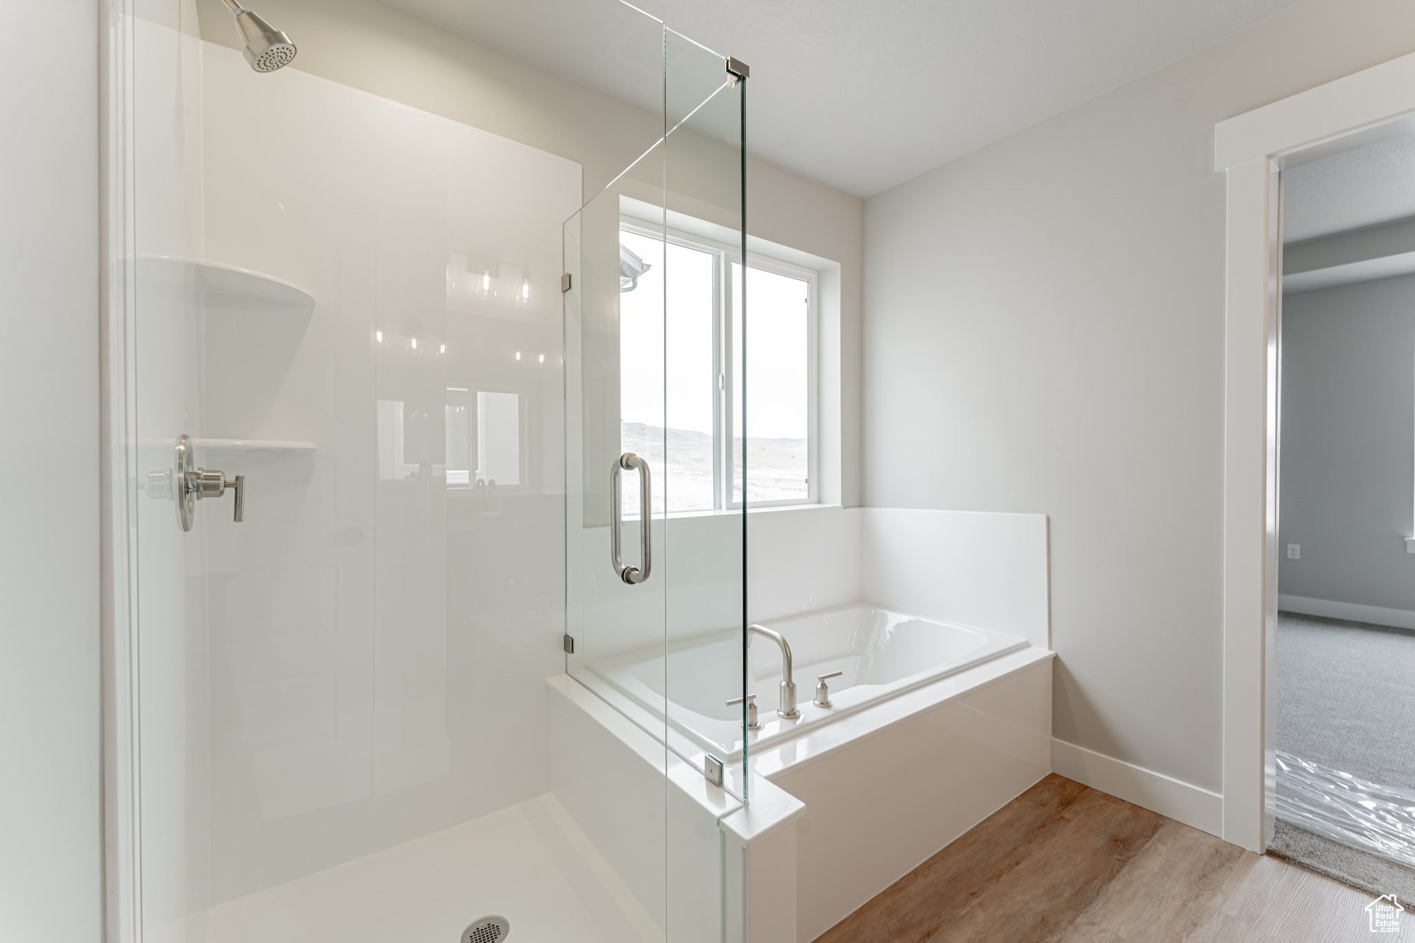
[[[1415,216],[1415,134],[1282,171],[1282,240]]]

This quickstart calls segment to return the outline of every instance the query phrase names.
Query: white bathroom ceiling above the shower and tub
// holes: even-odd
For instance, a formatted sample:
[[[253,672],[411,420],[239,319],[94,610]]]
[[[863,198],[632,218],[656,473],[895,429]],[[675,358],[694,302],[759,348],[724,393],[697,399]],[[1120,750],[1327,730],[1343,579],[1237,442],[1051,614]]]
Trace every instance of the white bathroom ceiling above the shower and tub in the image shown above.
[[[870,197],[1296,0],[638,0],[751,66],[747,147]],[[616,0],[388,0],[652,106]],[[625,18],[627,17],[627,18]]]

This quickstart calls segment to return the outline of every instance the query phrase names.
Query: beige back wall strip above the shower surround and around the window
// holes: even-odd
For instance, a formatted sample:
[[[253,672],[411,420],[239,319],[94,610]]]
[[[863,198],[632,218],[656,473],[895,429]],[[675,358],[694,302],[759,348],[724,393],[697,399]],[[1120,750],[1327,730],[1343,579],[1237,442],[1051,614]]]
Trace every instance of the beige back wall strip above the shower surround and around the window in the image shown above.
[[[221,0],[197,0],[202,38],[236,48]],[[263,0],[300,48],[291,68],[501,134],[584,168],[593,197],[662,133],[662,117],[376,0]],[[749,129],[751,107],[749,85]],[[841,263],[842,503],[860,503],[860,201],[747,161],[747,230]]]

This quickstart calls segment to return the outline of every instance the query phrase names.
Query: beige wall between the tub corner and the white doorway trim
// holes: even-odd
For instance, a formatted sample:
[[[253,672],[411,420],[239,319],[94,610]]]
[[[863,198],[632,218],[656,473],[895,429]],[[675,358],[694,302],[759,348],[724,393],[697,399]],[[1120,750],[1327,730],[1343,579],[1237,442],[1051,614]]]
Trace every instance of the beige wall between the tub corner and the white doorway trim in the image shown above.
[[[866,201],[866,505],[1051,516],[1057,738],[1221,789],[1213,126],[1411,49],[1309,0]]]

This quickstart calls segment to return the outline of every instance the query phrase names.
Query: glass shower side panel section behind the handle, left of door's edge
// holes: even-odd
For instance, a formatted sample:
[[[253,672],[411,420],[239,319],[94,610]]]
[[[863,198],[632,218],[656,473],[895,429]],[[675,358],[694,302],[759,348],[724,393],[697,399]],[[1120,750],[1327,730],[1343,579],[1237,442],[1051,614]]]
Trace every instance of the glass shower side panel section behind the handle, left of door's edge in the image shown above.
[[[662,180],[659,143],[565,226],[566,666],[661,742],[664,239],[645,216],[662,218]],[[648,469],[647,508],[630,454]],[[627,582],[623,567],[644,578]]]

